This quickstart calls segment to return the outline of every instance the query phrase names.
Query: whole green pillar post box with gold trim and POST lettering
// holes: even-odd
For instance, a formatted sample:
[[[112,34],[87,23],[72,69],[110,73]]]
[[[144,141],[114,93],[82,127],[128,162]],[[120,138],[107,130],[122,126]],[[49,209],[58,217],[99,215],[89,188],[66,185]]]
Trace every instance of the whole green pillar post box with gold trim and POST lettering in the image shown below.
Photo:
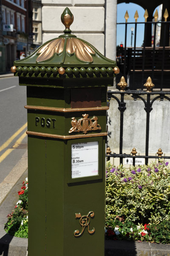
[[[104,256],[107,86],[116,62],[71,34],[11,70],[27,87],[28,255]]]

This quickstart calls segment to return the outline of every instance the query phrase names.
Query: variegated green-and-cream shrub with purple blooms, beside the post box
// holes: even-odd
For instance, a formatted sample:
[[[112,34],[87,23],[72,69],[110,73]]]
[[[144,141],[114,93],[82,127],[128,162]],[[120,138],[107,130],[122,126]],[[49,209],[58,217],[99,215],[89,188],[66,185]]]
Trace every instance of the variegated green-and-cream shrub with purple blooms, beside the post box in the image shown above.
[[[106,224],[117,215],[125,221],[158,224],[170,220],[170,168],[168,162],[147,166],[112,166],[107,162]]]

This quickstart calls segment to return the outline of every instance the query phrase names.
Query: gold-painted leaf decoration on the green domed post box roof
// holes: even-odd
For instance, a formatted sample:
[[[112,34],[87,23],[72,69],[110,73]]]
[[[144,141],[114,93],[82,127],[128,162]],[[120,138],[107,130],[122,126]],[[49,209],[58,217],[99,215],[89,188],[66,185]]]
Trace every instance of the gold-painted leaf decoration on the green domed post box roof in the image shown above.
[[[37,57],[37,62],[46,61],[54,56],[55,53],[59,54],[63,52],[65,43],[65,38],[57,38],[51,41],[48,44],[45,44],[37,54],[40,55]],[[78,38],[68,38],[66,52],[68,54],[73,55],[75,53],[76,57],[80,61],[84,62],[92,62],[93,57],[91,54],[95,54],[94,50],[91,49],[87,44],[83,41],[79,40]]]

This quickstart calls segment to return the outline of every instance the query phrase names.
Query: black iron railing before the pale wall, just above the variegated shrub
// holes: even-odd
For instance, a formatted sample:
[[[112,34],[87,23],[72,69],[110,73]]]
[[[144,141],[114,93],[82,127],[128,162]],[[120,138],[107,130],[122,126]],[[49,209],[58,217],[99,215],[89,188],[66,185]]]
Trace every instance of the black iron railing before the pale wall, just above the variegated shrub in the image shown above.
[[[118,98],[118,95],[120,95],[120,100]],[[144,103],[144,110],[146,111],[146,136],[145,136],[145,155],[136,156],[136,149],[133,148],[132,155],[130,154],[123,154],[123,123],[124,123],[124,112],[126,110],[126,102],[125,102],[125,95],[130,95],[134,101],[137,99],[142,100]],[[144,99],[144,96],[146,99]],[[115,99],[118,103],[118,109],[120,111],[120,131],[119,131],[119,154],[116,153],[110,153],[110,148],[108,146],[107,150],[107,157],[108,160],[110,160],[111,157],[119,157],[120,164],[123,163],[123,158],[130,157],[133,159],[133,165],[135,166],[135,159],[136,158],[144,158],[145,164],[148,163],[149,158],[160,158],[163,154],[161,152],[161,149],[158,151],[158,156],[149,155],[149,131],[150,131],[150,112],[153,110],[153,102],[160,99],[160,101],[163,101],[164,99],[167,99],[170,102],[170,92],[167,91],[155,91],[155,92],[148,92],[148,91],[142,91],[142,90],[126,90],[126,91],[108,91],[108,101],[110,102],[111,99]],[[114,149],[111,149],[112,151]],[[168,156],[164,156],[165,159],[170,159]]]

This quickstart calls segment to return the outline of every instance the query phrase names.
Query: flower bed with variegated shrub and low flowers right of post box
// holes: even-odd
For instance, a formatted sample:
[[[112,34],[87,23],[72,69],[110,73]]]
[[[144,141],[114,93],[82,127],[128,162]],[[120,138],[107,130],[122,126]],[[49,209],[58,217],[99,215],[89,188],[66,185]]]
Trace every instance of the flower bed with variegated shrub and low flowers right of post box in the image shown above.
[[[170,243],[168,162],[106,172],[106,238]]]

